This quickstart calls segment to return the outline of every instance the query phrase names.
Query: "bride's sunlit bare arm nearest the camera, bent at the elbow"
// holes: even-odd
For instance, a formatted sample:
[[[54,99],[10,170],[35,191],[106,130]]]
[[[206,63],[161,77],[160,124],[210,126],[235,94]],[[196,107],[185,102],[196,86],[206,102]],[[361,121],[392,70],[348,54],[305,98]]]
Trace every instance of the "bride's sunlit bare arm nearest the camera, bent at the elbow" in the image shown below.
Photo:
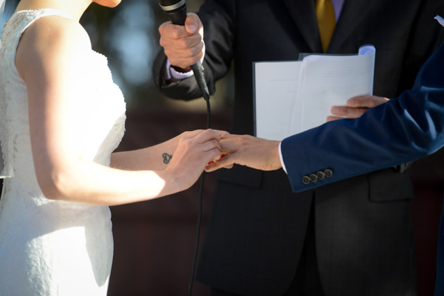
[[[218,158],[212,130],[178,139],[164,170],[123,171],[81,158],[78,102],[89,37],[74,21],[44,17],[27,29],[16,65],[28,87],[31,146],[37,181],[47,198],[88,204],[124,204],[187,189],[207,162]],[[81,86],[81,84],[80,84]],[[98,110],[97,112],[100,112]]]

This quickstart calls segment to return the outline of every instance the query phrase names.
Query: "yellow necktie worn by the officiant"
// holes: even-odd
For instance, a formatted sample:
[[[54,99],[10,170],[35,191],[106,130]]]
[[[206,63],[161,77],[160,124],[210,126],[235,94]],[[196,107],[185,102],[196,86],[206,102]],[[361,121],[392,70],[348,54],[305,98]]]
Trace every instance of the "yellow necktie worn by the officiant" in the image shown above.
[[[316,0],[316,17],[318,17],[319,33],[321,34],[322,49],[325,53],[332,39],[336,19],[334,9],[330,0]]]

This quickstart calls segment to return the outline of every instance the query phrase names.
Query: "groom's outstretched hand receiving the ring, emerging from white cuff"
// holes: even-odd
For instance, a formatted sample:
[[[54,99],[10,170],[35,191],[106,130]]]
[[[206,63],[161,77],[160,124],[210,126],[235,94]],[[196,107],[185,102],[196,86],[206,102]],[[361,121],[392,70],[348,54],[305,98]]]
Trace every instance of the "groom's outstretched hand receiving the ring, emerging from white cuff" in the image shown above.
[[[231,168],[233,164],[249,166],[262,171],[277,170],[282,167],[279,143],[279,141],[261,139],[248,134],[225,134],[219,141],[221,153],[225,156],[207,166],[205,171]]]

